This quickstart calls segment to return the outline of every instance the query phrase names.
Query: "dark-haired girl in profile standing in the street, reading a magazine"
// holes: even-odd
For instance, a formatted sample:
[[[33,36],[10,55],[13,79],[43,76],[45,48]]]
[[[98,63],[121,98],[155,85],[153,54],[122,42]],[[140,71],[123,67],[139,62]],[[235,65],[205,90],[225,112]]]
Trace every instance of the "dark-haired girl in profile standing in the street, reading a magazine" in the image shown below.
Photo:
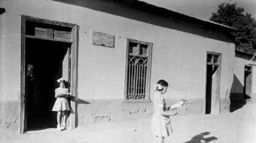
[[[164,100],[164,93],[167,92],[168,83],[165,80],[159,80],[156,83],[154,101],[154,114],[151,122],[151,130],[153,135],[157,138],[159,143],[164,142],[164,137],[170,136],[172,133],[171,121],[169,116],[174,116],[179,112],[167,111],[166,101]]]

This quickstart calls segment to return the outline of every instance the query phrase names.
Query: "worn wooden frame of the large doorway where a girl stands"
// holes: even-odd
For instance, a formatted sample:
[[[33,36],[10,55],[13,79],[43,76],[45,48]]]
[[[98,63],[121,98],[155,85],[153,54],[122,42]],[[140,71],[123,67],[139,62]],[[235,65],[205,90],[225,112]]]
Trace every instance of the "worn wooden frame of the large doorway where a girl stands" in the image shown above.
[[[72,41],[71,41],[71,83],[70,90],[73,97],[77,97],[77,62],[78,62],[78,29],[79,26],[71,23],[63,23],[60,21],[53,21],[47,19],[34,18],[31,16],[21,16],[21,59],[20,59],[20,97],[19,97],[19,133],[22,134],[26,131],[26,21],[35,21],[38,23],[59,25],[62,27],[72,28]],[[59,40],[60,41],[60,40]],[[69,116],[71,125],[70,128],[76,127],[76,102],[75,98],[71,100],[71,114]]]

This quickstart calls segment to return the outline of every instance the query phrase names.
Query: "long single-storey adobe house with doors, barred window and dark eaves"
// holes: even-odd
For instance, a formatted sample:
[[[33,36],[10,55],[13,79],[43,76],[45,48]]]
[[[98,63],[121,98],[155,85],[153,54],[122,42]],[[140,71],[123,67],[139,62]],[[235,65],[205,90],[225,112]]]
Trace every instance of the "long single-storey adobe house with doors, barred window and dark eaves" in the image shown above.
[[[56,127],[56,80],[69,81],[69,127],[151,116],[168,81],[180,114],[228,111],[233,28],[142,1],[6,0],[0,5],[0,124]]]

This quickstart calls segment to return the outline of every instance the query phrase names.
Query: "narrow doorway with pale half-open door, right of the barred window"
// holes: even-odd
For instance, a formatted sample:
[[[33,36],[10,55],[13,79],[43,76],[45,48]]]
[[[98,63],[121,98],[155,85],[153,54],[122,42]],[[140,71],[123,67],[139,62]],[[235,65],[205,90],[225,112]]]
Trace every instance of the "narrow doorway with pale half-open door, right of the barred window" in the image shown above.
[[[205,114],[220,112],[220,60],[220,54],[207,54]]]

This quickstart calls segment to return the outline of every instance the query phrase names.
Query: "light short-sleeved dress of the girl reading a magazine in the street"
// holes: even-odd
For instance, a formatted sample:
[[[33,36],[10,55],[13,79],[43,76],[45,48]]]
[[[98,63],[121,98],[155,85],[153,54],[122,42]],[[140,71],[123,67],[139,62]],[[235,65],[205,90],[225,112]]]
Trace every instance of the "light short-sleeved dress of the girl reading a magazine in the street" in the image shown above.
[[[160,114],[160,109],[163,107],[164,111],[166,111],[166,101],[163,98],[163,94],[155,93],[155,97],[153,99],[154,102],[154,114],[152,116],[151,122],[151,131],[154,136],[170,136],[172,133],[171,121],[168,116],[162,116]]]

